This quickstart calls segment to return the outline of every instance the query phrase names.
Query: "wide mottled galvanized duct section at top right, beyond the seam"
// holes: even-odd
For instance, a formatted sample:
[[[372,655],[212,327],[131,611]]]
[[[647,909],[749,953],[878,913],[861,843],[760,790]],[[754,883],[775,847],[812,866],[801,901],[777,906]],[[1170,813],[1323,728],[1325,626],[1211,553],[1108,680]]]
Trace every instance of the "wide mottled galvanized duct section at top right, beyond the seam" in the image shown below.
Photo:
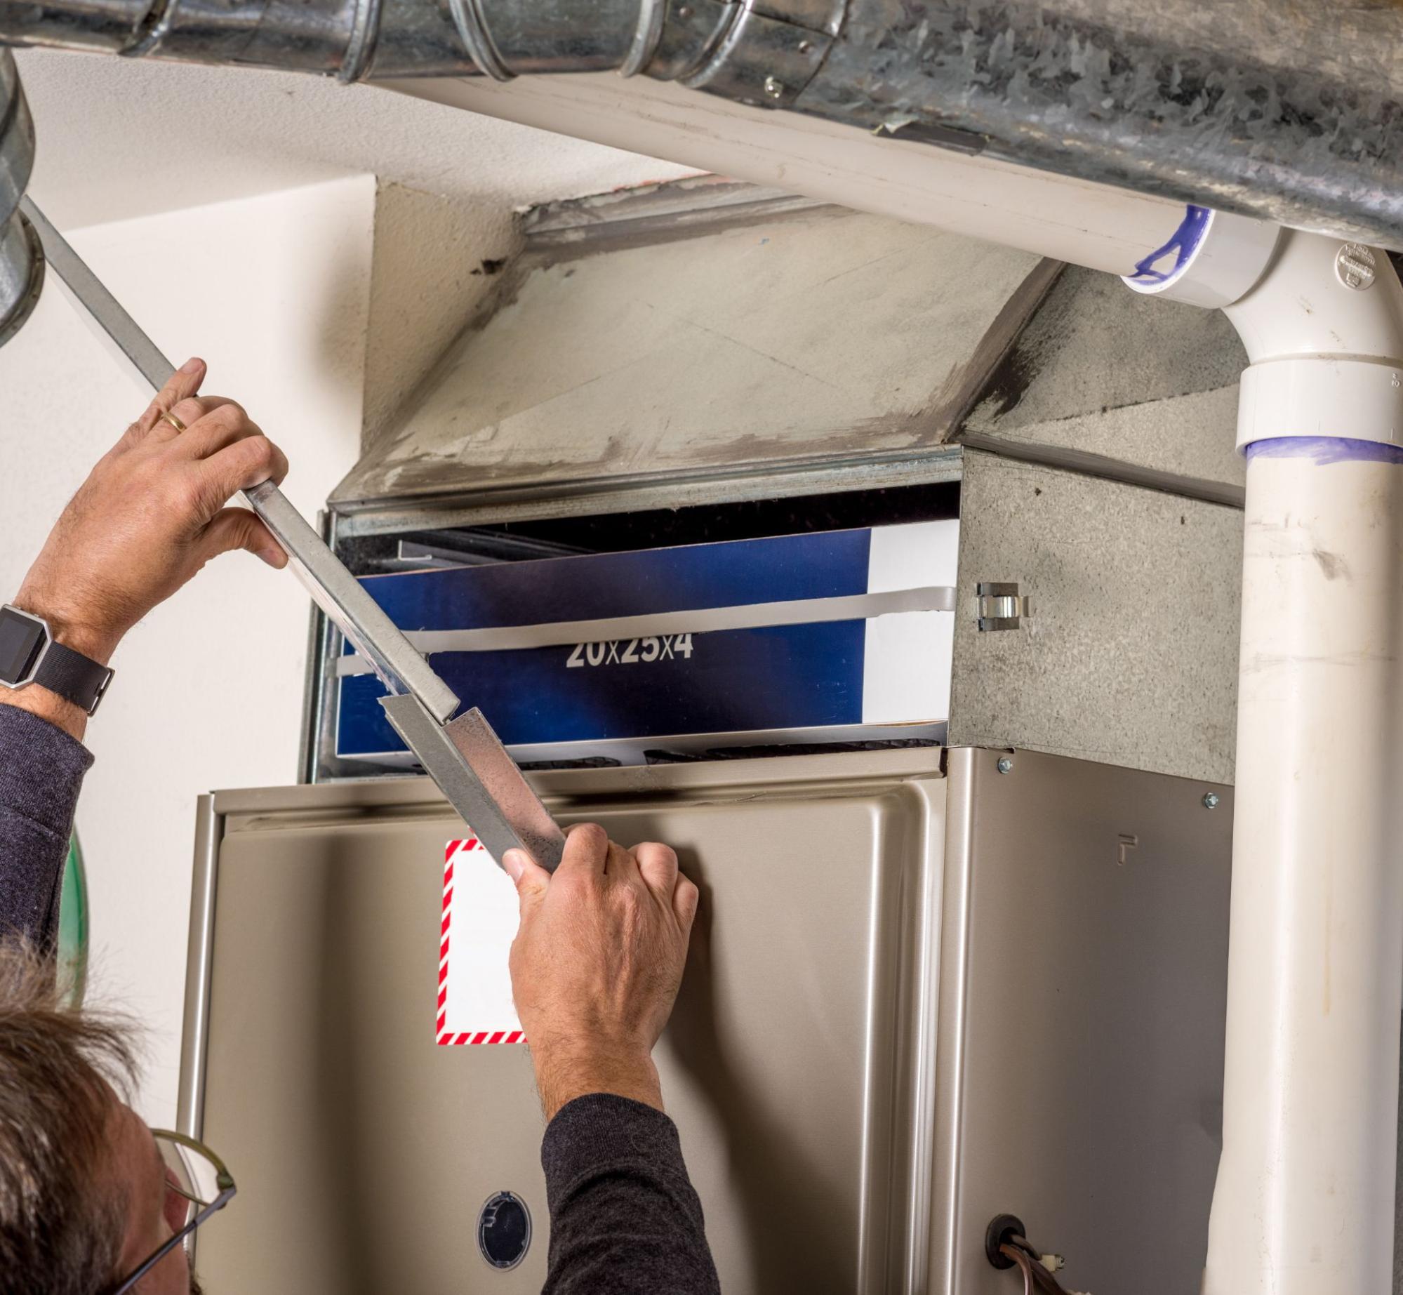
[[[804,112],[1403,247],[1392,0],[852,0]]]

